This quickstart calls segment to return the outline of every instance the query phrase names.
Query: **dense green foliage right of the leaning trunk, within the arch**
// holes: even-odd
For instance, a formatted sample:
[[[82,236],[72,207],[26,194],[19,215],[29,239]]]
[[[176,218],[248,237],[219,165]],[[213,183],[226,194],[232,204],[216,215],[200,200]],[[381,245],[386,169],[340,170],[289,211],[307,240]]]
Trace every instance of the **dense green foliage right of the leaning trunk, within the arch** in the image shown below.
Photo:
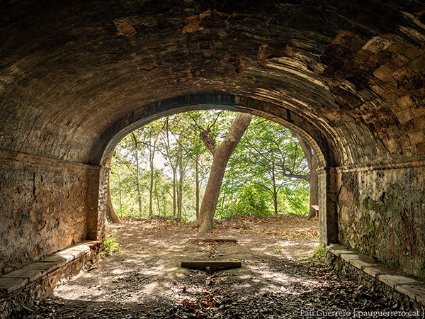
[[[219,216],[241,213],[234,206],[240,203],[241,197],[253,197],[244,194],[246,187],[256,189],[256,198],[259,198],[255,205],[248,200],[247,213],[259,216],[308,213],[307,161],[297,138],[282,125],[254,117],[227,167],[219,200]],[[258,209],[263,203],[266,203],[267,209]]]

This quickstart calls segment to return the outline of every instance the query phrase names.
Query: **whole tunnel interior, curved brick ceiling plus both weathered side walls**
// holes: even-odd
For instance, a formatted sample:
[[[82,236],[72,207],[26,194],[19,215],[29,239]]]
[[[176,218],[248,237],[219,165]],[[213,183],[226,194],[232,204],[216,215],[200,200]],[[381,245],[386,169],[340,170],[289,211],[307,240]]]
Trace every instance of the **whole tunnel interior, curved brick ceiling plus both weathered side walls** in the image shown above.
[[[96,165],[131,125],[224,106],[305,131],[336,167],[324,186],[339,240],[425,276],[423,10],[420,0],[2,3],[1,272],[98,235]]]

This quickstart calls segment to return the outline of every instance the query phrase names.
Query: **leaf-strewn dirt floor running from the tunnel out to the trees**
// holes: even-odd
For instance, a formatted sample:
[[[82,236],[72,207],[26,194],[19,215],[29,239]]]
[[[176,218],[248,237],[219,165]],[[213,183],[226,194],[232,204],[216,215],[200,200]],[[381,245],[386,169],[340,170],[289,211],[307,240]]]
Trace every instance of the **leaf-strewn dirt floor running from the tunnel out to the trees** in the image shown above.
[[[111,225],[121,251],[102,259],[23,318],[354,318],[332,311],[397,310],[307,257],[319,245],[315,220],[244,216],[217,223],[206,243],[191,223],[125,220]],[[242,268],[181,268],[186,260],[239,260]],[[361,318],[369,318],[362,316]]]

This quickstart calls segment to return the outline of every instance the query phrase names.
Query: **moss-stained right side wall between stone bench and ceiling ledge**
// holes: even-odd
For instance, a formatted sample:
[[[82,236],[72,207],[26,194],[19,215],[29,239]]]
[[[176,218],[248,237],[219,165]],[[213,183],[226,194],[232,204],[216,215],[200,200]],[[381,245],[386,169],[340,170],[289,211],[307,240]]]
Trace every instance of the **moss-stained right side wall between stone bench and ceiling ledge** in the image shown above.
[[[407,162],[346,167],[337,173],[340,242],[422,280],[424,165]]]

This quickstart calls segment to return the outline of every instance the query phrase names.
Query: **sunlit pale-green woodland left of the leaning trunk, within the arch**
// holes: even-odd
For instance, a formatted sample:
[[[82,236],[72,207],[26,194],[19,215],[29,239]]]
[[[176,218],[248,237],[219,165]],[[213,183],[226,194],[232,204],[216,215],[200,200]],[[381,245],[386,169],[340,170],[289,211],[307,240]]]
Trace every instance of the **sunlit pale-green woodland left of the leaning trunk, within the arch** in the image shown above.
[[[217,112],[203,113],[192,112],[197,121]],[[111,197],[118,217],[196,218],[195,184],[202,196],[211,161],[198,134],[191,116],[180,113],[123,138],[111,161]]]

